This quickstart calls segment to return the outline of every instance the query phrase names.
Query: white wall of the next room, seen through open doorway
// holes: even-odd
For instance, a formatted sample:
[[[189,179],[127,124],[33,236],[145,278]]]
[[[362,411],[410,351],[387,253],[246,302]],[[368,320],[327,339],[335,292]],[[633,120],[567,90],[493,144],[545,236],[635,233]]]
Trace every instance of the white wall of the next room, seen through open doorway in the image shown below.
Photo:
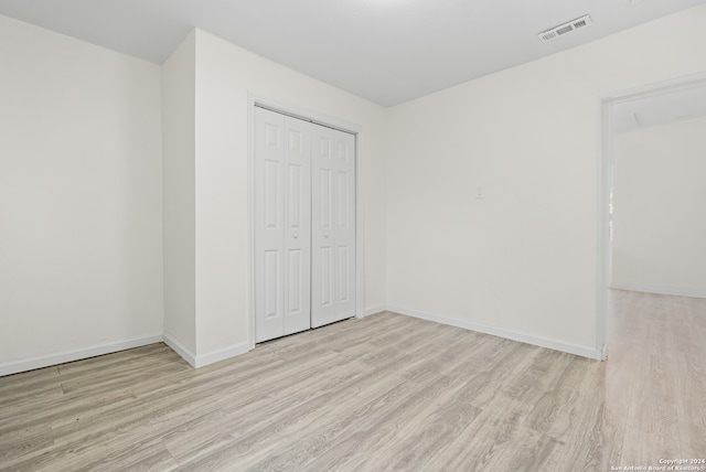
[[[706,298],[706,118],[616,135],[612,286]]]

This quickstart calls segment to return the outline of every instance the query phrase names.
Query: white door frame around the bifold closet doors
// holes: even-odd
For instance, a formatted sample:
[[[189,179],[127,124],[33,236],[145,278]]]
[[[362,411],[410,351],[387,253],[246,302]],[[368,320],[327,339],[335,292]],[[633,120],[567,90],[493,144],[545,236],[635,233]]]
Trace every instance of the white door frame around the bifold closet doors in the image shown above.
[[[355,317],[365,310],[365,244],[363,207],[363,128],[329,115],[311,111],[279,100],[248,93],[248,311],[250,320],[249,348],[255,348],[255,106],[350,132],[355,136]]]

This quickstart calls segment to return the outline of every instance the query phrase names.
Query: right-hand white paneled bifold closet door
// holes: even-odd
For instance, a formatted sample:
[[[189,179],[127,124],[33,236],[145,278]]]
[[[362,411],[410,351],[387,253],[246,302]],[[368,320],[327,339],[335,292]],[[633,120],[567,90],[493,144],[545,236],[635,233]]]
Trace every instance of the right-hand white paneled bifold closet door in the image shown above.
[[[355,315],[355,137],[312,125],[311,325]]]

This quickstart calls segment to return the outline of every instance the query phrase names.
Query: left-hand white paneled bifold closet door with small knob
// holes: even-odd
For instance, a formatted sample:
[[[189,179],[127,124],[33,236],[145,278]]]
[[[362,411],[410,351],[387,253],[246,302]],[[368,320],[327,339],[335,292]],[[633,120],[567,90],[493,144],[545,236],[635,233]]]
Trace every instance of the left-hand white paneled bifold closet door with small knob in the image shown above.
[[[310,328],[311,124],[255,108],[255,341]]]

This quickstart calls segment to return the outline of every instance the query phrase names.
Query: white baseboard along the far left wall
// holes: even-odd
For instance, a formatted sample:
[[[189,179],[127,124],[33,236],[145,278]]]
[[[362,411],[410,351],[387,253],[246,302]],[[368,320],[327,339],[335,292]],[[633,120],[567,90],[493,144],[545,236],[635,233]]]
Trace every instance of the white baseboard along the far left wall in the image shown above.
[[[97,355],[116,353],[118,351],[130,350],[132,347],[140,347],[160,342],[162,342],[162,335],[158,334],[153,336],[133,337],[125,341],[96,344],[90,347],[47,354],[23,361],[4,362],[0,364],[0,376],[79,361],[82,358],[95,357]]]

